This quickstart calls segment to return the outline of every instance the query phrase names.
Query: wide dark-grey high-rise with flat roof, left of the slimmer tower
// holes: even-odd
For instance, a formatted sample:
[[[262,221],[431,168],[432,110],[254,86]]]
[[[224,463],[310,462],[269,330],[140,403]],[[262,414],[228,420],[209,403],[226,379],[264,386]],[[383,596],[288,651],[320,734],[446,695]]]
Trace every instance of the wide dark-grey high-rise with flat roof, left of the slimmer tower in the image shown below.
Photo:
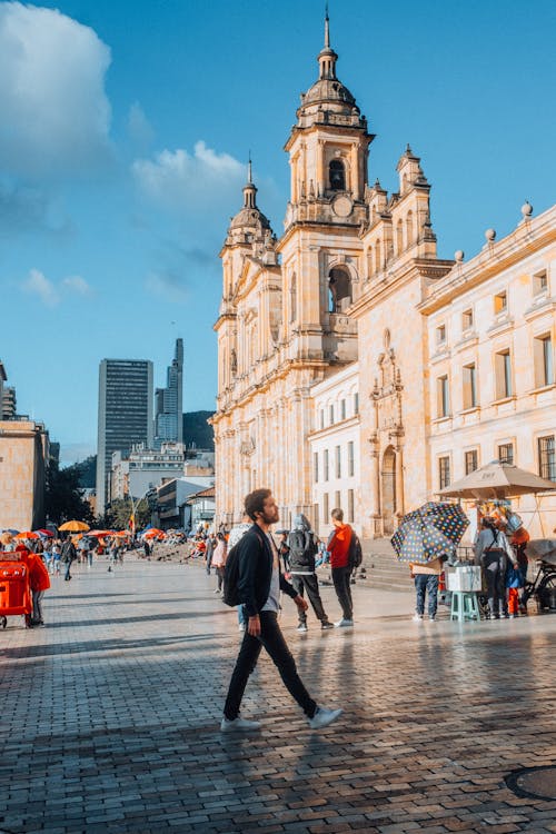
[[[152,363],[102,359],[99,369],[97,513],[109,495],[113,451],[129,453],[135,444],[152,446]]]

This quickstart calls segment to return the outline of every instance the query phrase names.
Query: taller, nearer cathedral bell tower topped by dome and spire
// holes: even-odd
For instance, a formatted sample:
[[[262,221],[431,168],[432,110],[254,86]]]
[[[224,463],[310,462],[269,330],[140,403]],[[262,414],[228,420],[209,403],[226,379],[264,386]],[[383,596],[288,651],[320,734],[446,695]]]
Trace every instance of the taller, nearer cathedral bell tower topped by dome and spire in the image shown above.
[[[357,358],[357,324],[347,314],[360,295],[367,220],[368,147],[374,139],[351,92],[338,79],[328,13],[318,79],[297,110],[285,150],[291,192],[282,258],[287,340],[305,359],[344,364]]]

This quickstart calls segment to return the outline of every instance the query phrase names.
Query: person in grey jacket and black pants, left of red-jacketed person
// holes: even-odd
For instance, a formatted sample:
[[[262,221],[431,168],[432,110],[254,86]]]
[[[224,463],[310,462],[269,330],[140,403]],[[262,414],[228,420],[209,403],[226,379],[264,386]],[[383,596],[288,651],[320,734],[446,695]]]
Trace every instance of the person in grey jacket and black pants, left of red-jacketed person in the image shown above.
[[[320,620],[322,629],[334,628],[326,615],[320,593],[318,579],[315,573],[315,556],[318,553],[317,537],[311,530],[309,520],[302,514],[294,518],[294,525],[288,534],[287,547],[289,554],[289,572],[291,574],[291,585],[299,596],[307,596],[312,606],[317,619]],[[299,625],[298,632],[307,632],[307,614],[302,608],[298,608]]]

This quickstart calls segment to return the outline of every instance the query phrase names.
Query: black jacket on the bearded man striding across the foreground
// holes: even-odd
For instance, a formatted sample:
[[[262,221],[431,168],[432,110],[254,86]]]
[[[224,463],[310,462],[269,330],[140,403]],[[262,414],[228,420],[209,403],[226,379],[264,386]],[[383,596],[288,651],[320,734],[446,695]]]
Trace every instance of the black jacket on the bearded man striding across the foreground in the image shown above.
[[[270,542],[258,524],[247,530],[238,544],[239,579],[238,592],[248,617],[254,617],[265,606],[270,593],[272,578],[272,550]],[[280,590],[292,599],[297,590],[286,582],[280,572]]]

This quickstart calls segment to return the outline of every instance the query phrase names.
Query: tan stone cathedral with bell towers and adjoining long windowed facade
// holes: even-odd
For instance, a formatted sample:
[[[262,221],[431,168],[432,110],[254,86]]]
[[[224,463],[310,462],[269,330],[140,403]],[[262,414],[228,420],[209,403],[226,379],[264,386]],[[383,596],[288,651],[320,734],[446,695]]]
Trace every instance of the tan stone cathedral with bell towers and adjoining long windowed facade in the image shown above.
[[[369,183],[374,135],[337,61],[327,18],[285,146],[284,232],[249,165],[220,251],[216,520],[268,486],[279,526],[305,513],[326,536],[341,506],[371,539],[494,458],[556,480],[556,207],[439,259],[419,157],[401,153],[397,192]]]

